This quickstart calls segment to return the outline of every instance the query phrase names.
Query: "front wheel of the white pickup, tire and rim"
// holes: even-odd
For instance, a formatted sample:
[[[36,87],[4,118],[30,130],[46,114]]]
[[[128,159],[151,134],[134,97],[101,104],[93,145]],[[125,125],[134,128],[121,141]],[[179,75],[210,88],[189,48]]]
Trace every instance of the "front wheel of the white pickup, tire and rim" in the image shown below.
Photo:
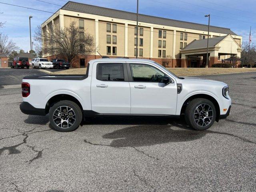
[[[185,111],[186,123],[196,130],[206,130],[214,124],[216,109],[214,104],[204,98],[196,98],[188,103]]]

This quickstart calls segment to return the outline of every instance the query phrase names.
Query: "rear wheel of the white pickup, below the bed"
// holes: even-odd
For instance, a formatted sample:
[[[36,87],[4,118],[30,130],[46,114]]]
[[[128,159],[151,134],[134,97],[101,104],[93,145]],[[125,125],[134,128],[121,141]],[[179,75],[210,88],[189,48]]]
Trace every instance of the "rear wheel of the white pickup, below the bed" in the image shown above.
[[[75,102],[60,101],[50,108],[49,121],[57,131],[74,131],[82,121],[82,110]]]

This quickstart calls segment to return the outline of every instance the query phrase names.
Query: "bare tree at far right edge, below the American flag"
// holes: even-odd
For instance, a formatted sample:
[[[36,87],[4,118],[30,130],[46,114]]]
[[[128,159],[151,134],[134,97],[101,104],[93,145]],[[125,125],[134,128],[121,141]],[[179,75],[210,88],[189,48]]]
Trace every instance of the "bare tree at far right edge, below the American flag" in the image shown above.
[[[249,42],[243,42],[242,43],[242,53],[241,53],[241,59],[243,60],[243,63],[248,63],[252,67],[254,62],[256,62],[256,46],[254,43],[250,44],[250,54],[249,54],[249,62],[248,62],[248,49],[249,49]]]

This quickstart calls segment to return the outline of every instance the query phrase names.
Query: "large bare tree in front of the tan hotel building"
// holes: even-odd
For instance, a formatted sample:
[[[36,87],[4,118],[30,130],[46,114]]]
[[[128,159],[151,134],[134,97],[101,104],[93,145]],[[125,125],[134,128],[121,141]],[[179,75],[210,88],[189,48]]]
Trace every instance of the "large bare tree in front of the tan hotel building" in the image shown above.
[[[55,25],[36,30],[34,39],[41,42],[44,54],[60,55],[70,63],[78,54],[95,52],[94,37],[71,22],[70,26],[58,28]]]

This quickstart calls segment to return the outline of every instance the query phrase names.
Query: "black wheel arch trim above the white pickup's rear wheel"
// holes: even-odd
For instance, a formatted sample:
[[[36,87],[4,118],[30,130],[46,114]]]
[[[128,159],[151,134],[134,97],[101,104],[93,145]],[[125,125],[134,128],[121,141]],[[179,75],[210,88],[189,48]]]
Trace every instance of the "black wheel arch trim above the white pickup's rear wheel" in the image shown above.
[[[80,103],[80,101],[75,98],[74,96],[71,96],[69,94],[57,94],[52,96],[46,103],[45,106],[45,114],[49,113],[50,107],[52,107],[55,103],[59,102],[59,101],[63,101],[63,100],[70,100],[72,102],[75,102],[81,109],[81,111],[83,112],[83,107]]]

